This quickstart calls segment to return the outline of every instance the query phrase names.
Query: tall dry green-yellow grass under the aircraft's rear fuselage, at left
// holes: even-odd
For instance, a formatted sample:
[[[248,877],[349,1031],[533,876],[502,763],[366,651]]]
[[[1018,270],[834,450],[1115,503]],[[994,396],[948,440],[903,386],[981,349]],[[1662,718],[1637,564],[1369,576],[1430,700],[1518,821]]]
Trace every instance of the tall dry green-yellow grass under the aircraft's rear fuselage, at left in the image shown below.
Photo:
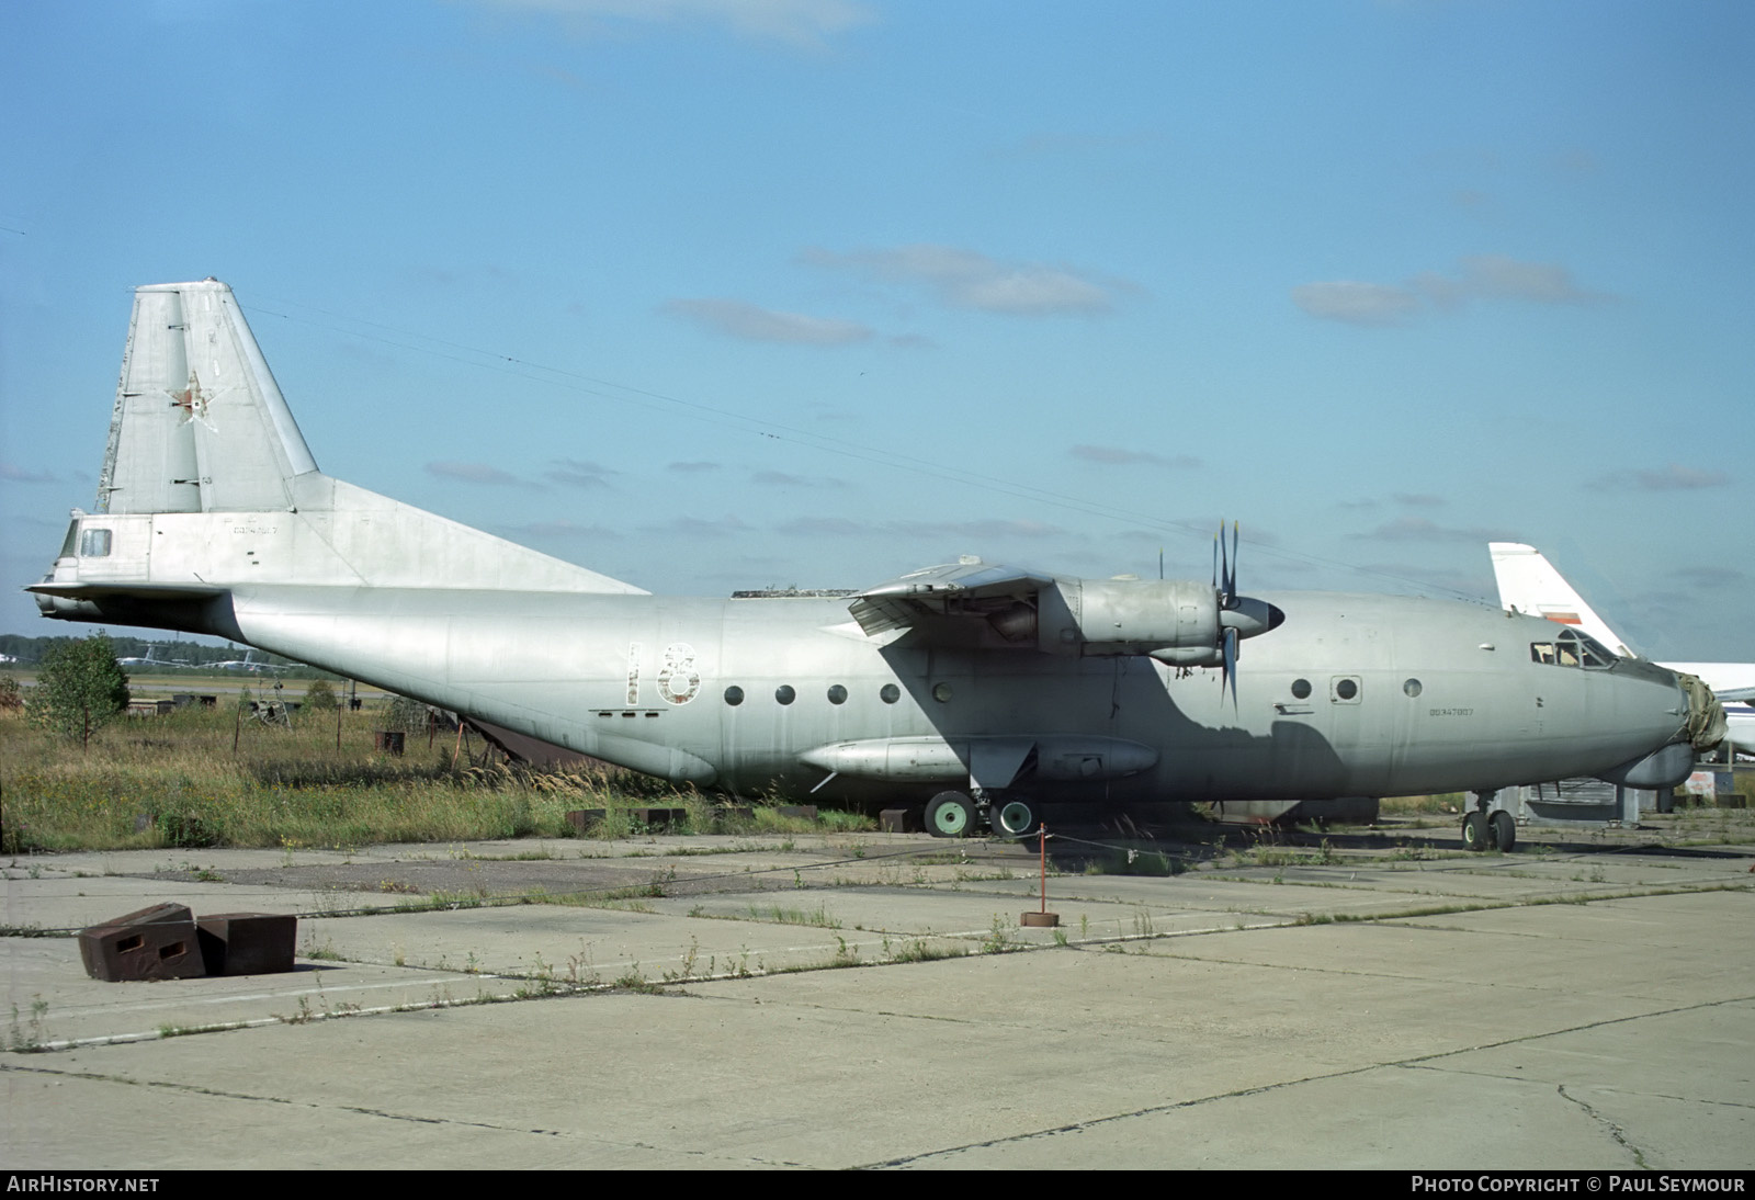
[[[0,712],[0,853],[228,846],[291,854],[376,842],[577,839],[567,823],[574,809],[605,811],[591,839],[649,833],[630,812],[639,807],[684,809],[686,819],[667,830],[676,833],[874,828],[853,812],[825,811],[811,821],[760,805],[742,816],[607,765],[546,772],[453,760],[455,737],[411,735],[407,756],[393,758],[374,749],[372,733],[386,719],[376,709],[342,712],[337,747],[333,712],[265,728],[237,725],[226,700],[116,721],[88,749]],[[553,856],[553,847],[512,854]]]

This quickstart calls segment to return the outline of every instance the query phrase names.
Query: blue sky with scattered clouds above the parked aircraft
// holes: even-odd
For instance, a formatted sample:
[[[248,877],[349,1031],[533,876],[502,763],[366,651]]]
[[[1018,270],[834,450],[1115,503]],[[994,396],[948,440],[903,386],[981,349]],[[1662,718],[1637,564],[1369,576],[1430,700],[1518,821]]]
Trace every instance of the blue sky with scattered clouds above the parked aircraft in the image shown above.
[[[1755,658],[1755,7],[0,5],[0,630],[135,284],[330,474],[655,591],[976,553]],[[1741,504],[1739,504],[1741,502]]]

